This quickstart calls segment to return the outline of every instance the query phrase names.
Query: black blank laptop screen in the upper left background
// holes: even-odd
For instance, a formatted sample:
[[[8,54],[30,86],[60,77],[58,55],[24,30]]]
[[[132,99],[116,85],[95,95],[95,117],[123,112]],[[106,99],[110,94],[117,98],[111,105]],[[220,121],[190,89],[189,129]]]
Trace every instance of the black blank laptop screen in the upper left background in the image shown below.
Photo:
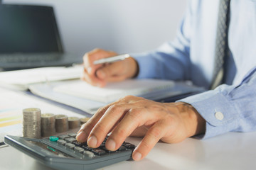
[[[0,53],[63,52],[53,8],[0,5]]]

